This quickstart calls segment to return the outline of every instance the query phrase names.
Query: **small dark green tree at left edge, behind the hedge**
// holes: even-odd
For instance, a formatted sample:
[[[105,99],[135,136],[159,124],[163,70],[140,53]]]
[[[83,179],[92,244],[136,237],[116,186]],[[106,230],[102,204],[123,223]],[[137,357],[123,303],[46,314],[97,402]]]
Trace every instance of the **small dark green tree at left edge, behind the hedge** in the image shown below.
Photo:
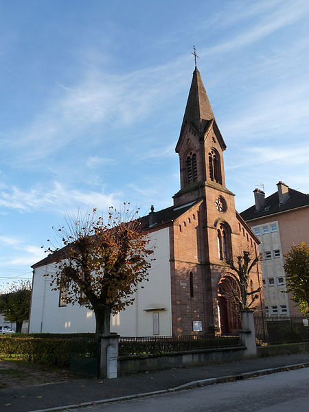
[[[5,293],[0,295],[0,312],[5,320],[16,323],[16,332],[21,332],[23,321],[29,319],[31,300],[31,283],[29,281],[13,282]]]

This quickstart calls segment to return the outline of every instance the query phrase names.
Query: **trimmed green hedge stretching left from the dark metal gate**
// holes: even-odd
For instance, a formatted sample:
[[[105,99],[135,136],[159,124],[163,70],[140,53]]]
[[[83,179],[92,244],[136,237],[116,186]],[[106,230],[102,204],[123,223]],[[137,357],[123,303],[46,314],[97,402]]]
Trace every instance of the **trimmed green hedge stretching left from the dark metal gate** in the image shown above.
[[[0,356],[65,367],[69,365],[70,352],[71,339],[0,337]]]

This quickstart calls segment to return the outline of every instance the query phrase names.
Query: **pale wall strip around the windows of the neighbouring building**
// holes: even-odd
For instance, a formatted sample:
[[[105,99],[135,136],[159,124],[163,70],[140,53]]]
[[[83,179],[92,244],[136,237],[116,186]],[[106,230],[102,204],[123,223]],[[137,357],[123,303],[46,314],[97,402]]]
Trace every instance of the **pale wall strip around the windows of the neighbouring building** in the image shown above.
[[[277,226],[277,231],[271,232],[271,225]],[[268,233],[263,233],[263,227],[268,227]],[[277,220],[272,220],[269,222],[265,222],[262,225],[252,226],[251,229],[260,229],[260,235],[258,238],[262,241],[259,246],[260,253],[262,253],[261,258],[261,268],[262,268],[262,278],[265,281],[263,285],[264,290],[264,299],[265,299],[265,306],[268,306],[269,314],[273,314],[271,307],[277,306],[277,314],[283,314],[280,310],[280,306],[286,305],[287,312],[289,314],[288,308],[288,295],[286,293],[282,293],[282,290],[286,290],[285,285],[285,273],[284,273],[284,258],[282,254],[282,245],[280,241],[280,233],[279,233],[279,223]],[[274,251],[280,251],[280,257],[275,258]],[[265,252],[271,251],[271,259],[266,259]],[[275,284],[269,284],[269,278],[273,277],[275,280]],[[280,285],[277,282],[278,277],[284,278],[284,284]]]

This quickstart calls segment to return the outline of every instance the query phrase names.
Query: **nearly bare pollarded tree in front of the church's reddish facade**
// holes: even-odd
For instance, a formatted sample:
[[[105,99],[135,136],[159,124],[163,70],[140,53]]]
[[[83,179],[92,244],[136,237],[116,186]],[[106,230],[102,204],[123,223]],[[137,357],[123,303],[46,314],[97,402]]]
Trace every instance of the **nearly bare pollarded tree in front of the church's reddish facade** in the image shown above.
[[[258,299],[261,287],[249,290],[250,273],[255,265],[258,264],[258,255],[252,256],[250,251],[243,251],[236,259],[227,260],[229,267],[237,273],[240,295],[237,290],[231,290],[231,300],[234,301],[240,311],[252,308],[253,302]],[[249,297],[251,301],[249,302]]]

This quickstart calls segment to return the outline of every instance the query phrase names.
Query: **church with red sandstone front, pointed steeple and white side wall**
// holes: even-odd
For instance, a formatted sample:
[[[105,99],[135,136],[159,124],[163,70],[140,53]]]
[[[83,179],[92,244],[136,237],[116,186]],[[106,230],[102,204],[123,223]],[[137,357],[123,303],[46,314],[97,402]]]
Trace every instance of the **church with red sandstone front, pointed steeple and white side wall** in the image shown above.
[[[231,334],[241,329],[231,299],[238,277],[227,260],[250,251],[259,254],[260,240],[235,209],[225,186],[220,133],[197,67],[194,69],[176,153],[180,190],[173,205],[142,218],[155,247],[155,261],[135,293],[135,302],[114,315],[112,332],[121,336]],[[62,291],[52,291],[47,273],[52,255],[32,266],[30,332],[94,332],[95,317],[83,306],[70,305]],[[249,287],[262,286],[260,264]],[[250,298],[249,298],[250,299]],[[262,310],[262,293],[254,306]]]

